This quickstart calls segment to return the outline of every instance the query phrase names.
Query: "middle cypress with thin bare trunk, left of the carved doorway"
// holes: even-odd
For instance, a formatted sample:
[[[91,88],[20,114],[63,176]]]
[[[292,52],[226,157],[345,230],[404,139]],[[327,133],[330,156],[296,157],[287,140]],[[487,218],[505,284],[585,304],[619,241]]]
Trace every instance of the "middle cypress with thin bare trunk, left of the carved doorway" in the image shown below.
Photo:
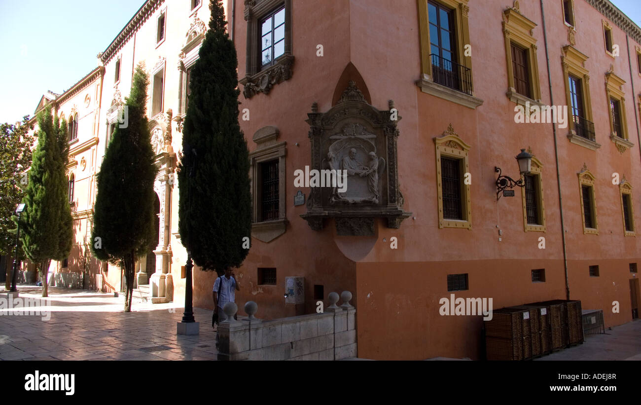
[[[121,265],[127,283],[124,311],[131,311],[134,267],[147,252],[154,229],[157,169],[146,113],[149,78],[142,65],[126,100],[128,122],[112,135],[97,178],[92,253]]]

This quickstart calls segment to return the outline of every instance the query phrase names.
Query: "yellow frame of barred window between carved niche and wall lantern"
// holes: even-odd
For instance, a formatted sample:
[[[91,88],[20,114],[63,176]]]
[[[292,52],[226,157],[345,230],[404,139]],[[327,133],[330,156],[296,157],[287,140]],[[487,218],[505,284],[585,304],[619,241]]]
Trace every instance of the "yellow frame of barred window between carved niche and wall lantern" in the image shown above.
[[[470,203],[470,185],[463,183],[461,199],[463,202],[462,211],[465,215],[464,220],[452,220],[443,218],[443,186],[441,178],[441,156],[449,158],[456,158],[462,160],[463,179],[465,173],[469,173],[468,153],[470,145],[466,144],[457,133],[454,132],[452,124],[449,124],[447,131],[442,136],[434,138],[436,144],[437,154],[437,194],[438,194],[438,227],[440,229],[445,227],[465,228],[472,229],[472,206]]]

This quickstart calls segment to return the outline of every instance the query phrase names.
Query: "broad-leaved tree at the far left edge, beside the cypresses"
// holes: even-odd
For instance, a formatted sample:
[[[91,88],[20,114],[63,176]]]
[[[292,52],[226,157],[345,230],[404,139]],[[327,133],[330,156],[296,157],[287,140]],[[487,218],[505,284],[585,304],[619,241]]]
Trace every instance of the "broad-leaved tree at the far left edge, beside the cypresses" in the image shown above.
[[[27,172],[35,136],[31,135],[33,124],[26,115],[17,124],[0,124],[0,255],[13,256],[15,253],[16,206],[22,201],[28,183]],[[19,246],[20,247],[20,246]],[[22,249],[19,256],[24,258]],[[4,272],[5,269],[0,269]],[[7,272],[6,282],[11,281]]]

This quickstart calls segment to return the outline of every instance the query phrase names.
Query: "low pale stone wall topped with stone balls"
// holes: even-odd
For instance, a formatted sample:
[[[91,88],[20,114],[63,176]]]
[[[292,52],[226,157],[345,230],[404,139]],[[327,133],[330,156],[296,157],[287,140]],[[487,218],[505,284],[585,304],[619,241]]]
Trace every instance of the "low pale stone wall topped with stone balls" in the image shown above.
[[[330,293],[323,313],[260,320],[258,305],[249,301],[249,317],[234,320],[236,304],[224,308],[227,319],[218,326],[218,360],[341,360],[356,357],[356,309],[349,304],[352,294]],[[225,315],[222,315],[225,316]]]

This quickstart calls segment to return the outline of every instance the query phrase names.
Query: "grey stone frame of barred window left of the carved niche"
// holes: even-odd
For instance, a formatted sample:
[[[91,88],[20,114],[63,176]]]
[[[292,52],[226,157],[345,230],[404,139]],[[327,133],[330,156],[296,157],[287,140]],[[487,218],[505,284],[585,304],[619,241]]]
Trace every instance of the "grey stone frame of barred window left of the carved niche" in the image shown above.
[[[251,236],[269,243],[287,231],[287,204],[285,156],[287,156],[287,142],[278,142],[279,131],[273,126],[265,126],[254,133],[253,141],[257,147],[249,154],[251,163],[251,195],[253,201],[253,220]],[[278,159],[278,219],[271,221],[260,220],[260,163]]]

